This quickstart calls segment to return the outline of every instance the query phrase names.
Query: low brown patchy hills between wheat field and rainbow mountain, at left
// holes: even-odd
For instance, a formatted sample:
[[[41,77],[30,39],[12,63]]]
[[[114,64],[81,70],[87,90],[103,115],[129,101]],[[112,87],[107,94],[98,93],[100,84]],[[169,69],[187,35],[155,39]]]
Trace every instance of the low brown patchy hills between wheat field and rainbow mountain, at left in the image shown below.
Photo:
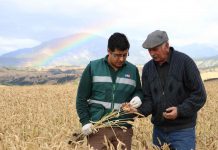
[[[0,85],[63,84],[76,80],[84,68],[0,68]]]

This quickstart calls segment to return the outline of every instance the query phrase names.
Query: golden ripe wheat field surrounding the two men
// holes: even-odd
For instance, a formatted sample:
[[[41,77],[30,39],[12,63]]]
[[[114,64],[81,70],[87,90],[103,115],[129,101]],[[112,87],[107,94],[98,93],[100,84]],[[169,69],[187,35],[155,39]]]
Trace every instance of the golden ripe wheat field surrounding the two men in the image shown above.
[[[0,86],[0,150],[89,149],[68,145],[80,131],[75,97],[78,81],[65,85]],[[205,83],[208,98],[198,113],[197,150],[218,149],[218,81]],[[137,119],[132,149],[152,148],[149,118]],[[168,149],[168,146],[163,147]]]

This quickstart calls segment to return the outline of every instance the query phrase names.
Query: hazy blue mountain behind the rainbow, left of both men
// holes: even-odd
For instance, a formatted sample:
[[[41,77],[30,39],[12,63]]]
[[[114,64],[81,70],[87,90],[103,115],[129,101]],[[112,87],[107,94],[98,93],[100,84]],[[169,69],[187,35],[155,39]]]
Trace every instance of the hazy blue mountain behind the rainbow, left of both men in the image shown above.
[[[0,56],[0,66],[48,67],[59,65],[80,66],[103,57],[107,40],[103,37],[80,33],[44,42],[33,48],[19,49]]]

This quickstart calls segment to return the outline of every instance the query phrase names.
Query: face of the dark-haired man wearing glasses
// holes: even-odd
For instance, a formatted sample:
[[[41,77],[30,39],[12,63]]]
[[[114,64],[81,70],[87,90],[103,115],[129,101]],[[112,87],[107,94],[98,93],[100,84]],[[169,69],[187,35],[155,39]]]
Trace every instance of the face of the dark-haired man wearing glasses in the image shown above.
[[[108,49],[108,63],[116,70],[123,66],[128,56],[129,50],[120,51],[115,49],[114,52]]]

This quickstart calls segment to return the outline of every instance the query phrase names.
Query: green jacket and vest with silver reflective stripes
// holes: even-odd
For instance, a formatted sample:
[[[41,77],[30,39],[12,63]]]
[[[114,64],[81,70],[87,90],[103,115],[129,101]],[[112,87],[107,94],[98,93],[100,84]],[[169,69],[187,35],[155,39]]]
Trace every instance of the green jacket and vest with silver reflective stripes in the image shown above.
[[[107,56],[91,61],[82,74],[77,93],[80,122],[85,125],[90,120],[98,121],[113,109],[119,110],[122,103],[134,96],[142,99],[136,66],[126,61],[122,68],[114,71],[107,63]]]

